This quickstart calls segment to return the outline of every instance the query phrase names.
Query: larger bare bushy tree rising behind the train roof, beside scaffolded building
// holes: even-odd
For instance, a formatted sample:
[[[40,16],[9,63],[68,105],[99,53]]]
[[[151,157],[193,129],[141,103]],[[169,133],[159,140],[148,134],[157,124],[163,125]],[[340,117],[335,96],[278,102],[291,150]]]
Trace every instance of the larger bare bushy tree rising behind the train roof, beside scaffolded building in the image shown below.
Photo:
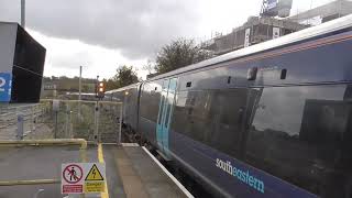
[[[198,47],[194,40],[178,38],[163,46],[157,53],[155,70],[157,74],[163,74],[210,57],[211,54]]]

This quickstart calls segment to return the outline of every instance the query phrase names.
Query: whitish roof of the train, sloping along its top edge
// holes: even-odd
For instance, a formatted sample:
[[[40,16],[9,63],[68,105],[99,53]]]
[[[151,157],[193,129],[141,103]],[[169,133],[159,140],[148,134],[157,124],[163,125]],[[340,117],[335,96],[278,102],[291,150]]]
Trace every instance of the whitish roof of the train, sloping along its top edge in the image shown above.
[[[268,50],[280,47],[284,45],[288,45],[288,44],[294,44],[296,42],[314,38],[319,35],[324,35],[324,34],[336,32],[339,30],[343,30],[346,28],[351,28],[351,26],[352,26],[352,14],[349,14],[346,16],[339,18],[339,19],[322,23],[317,26],[311,26],[311,28],[308,28],[308,29],[305,29],[305,30],[278,37],[278,38],[275,38],[275,40],[266,41],[266,42],[263,42],[260,44],[255,44],[255,45],[252,45],[252,46],[249,46],[245,48],[241,48],[238,51],[233,51],[233,52],[223,54],[221,56],[206,59],[206,61],[197,63],[197,64],[182,67],[182,68],[172,70],[169,73],[165,73],[165,74],[155,76],[155,77],[147,79],[145,81],[153,81],[156,79],[166,78],[169,76],[174,76],[174,75],[186,73],[189,70],[195,70],[198,68],[211,66],[211,65],[219,64],[222,62],[241,58],[244,56],[249,56],[251,54],[268,51]]]

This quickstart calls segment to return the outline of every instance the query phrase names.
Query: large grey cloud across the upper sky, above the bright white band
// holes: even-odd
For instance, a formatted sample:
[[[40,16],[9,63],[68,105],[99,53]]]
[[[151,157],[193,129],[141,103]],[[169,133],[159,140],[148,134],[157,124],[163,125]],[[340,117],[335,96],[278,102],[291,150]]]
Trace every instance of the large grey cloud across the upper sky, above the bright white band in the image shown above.
[[[0,19],[18,19],[19,2],[0,0]],[[201,1],[26,0],[26,24],[46,35],[79,38],[120,50],[128,58],[143,58],[170,40],[195,34],[197,3]]]

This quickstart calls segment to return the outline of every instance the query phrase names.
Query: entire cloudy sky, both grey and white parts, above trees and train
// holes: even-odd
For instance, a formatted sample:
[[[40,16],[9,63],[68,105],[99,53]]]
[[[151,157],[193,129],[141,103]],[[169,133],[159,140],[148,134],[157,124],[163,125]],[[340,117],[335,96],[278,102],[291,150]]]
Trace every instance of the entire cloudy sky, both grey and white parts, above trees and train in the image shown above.
[[[294,0],[292,13],[331,0]],[[229,33],[262,0],[26,0],[26,30],[46,48],[45,76],[110,78],[119,66],[143,69],[178,37]],[[0,21],[20,22],[21,0],[0,0]]]

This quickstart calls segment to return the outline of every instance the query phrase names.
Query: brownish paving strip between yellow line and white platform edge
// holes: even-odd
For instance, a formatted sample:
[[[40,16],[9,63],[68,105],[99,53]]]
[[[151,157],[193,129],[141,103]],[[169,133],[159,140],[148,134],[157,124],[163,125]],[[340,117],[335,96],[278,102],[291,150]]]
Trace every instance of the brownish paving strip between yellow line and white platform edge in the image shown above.
[[[186,197],[141,146],[117,147],[116,160],[128,197]]]

